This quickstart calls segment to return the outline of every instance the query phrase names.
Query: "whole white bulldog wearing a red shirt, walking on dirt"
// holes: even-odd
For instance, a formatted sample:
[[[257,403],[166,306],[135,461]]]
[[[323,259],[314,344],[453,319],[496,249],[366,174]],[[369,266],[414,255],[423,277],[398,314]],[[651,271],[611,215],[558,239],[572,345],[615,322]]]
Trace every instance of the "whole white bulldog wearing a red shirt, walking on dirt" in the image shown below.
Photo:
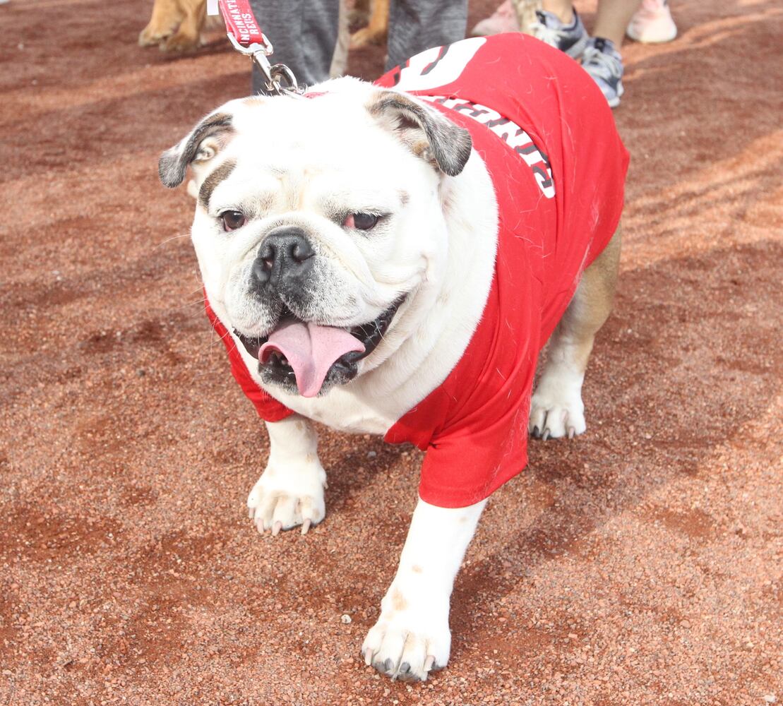
[[[374,85],[230,101],[161,157],[165,186],[192,168],[207,314],[269,432],[258,531],[326,515],[312,420],[426,450],[361,648],[386,675],[449,661],[456,573],[528,434],[586,429],[627,161],[592,79],[522,34],[428,50]]]

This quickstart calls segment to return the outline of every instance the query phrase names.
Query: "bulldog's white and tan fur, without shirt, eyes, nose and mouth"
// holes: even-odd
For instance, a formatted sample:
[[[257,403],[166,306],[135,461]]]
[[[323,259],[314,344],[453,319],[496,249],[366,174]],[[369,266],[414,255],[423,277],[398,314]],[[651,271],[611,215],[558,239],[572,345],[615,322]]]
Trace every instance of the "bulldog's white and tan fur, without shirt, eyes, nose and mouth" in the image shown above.
[[[285,302],[298,318],[355,326],[406,297],[358,376],[328,394],[304,398],[256,375],[296,412],[266,424],[269,463],[247,499],[258,530],[273,535],[306,531],[326,513],[326,473],[309,420],[383,434],[453,369],[482,315],[497,239],[493,184],[467,131],[417,99],[360,81],[312,91],[323,95],[226,103],[160,165],[170,187],[193,169],[193,243],[207,297],[229,331],[264,336],[276,326],[279,301],[251,296],[248,278],[259,243],[280,225],[302,229],[316,251],[309,291]],[[223,232],[226,209],[250,214],[247,225]],[[348,232],[344,215],[363,211],[385,215],[373,232]],[[618,232],[583,273],[551,337],[530,415],[530,429],[544,438],[586,428],[583,376],[611,309],[619,247]],[[453,580],[484,506],[449,510],[419,500],[399,570],[363,644],[367,664],[402,679],[426,679],[446,665]]]

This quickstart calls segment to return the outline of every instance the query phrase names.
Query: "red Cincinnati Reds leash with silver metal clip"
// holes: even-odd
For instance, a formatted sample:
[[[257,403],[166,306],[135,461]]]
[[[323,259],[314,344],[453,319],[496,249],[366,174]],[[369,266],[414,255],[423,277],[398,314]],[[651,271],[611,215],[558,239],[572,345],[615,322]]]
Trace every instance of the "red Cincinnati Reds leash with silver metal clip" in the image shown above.
[[[207,14],[218,9],[226,23],[226,36],[240,54],[250,56],[264,75],[267,90],[277,95],[301,95],[296,77],[285,64],[269,63],[272,42],[262,32],[248,0],[207,0]]]

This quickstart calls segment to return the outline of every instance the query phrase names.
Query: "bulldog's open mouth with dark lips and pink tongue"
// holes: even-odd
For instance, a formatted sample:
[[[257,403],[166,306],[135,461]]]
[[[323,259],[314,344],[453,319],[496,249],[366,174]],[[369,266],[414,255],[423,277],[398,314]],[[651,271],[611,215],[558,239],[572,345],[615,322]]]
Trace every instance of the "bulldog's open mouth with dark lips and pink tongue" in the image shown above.
[[[357,363],[383,340],[404,297],[377,319],[347,330],[298,319],[283,308],[272,333],[245,336],[234,330],[245,350],[258,359],[265,382],[280,384],[302,397],[316,397],[327,384],[345,384],[358,373]]]

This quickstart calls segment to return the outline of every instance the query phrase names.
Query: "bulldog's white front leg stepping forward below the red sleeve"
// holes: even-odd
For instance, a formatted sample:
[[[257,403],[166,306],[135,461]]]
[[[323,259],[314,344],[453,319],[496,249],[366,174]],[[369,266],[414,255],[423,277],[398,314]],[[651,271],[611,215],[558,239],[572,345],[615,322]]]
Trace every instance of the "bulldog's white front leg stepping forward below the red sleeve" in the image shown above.
[[[446,666],[454,578],[485,504],[449,509],[419,500],[381,617],[362,646],[366,664],[412,681]]]

